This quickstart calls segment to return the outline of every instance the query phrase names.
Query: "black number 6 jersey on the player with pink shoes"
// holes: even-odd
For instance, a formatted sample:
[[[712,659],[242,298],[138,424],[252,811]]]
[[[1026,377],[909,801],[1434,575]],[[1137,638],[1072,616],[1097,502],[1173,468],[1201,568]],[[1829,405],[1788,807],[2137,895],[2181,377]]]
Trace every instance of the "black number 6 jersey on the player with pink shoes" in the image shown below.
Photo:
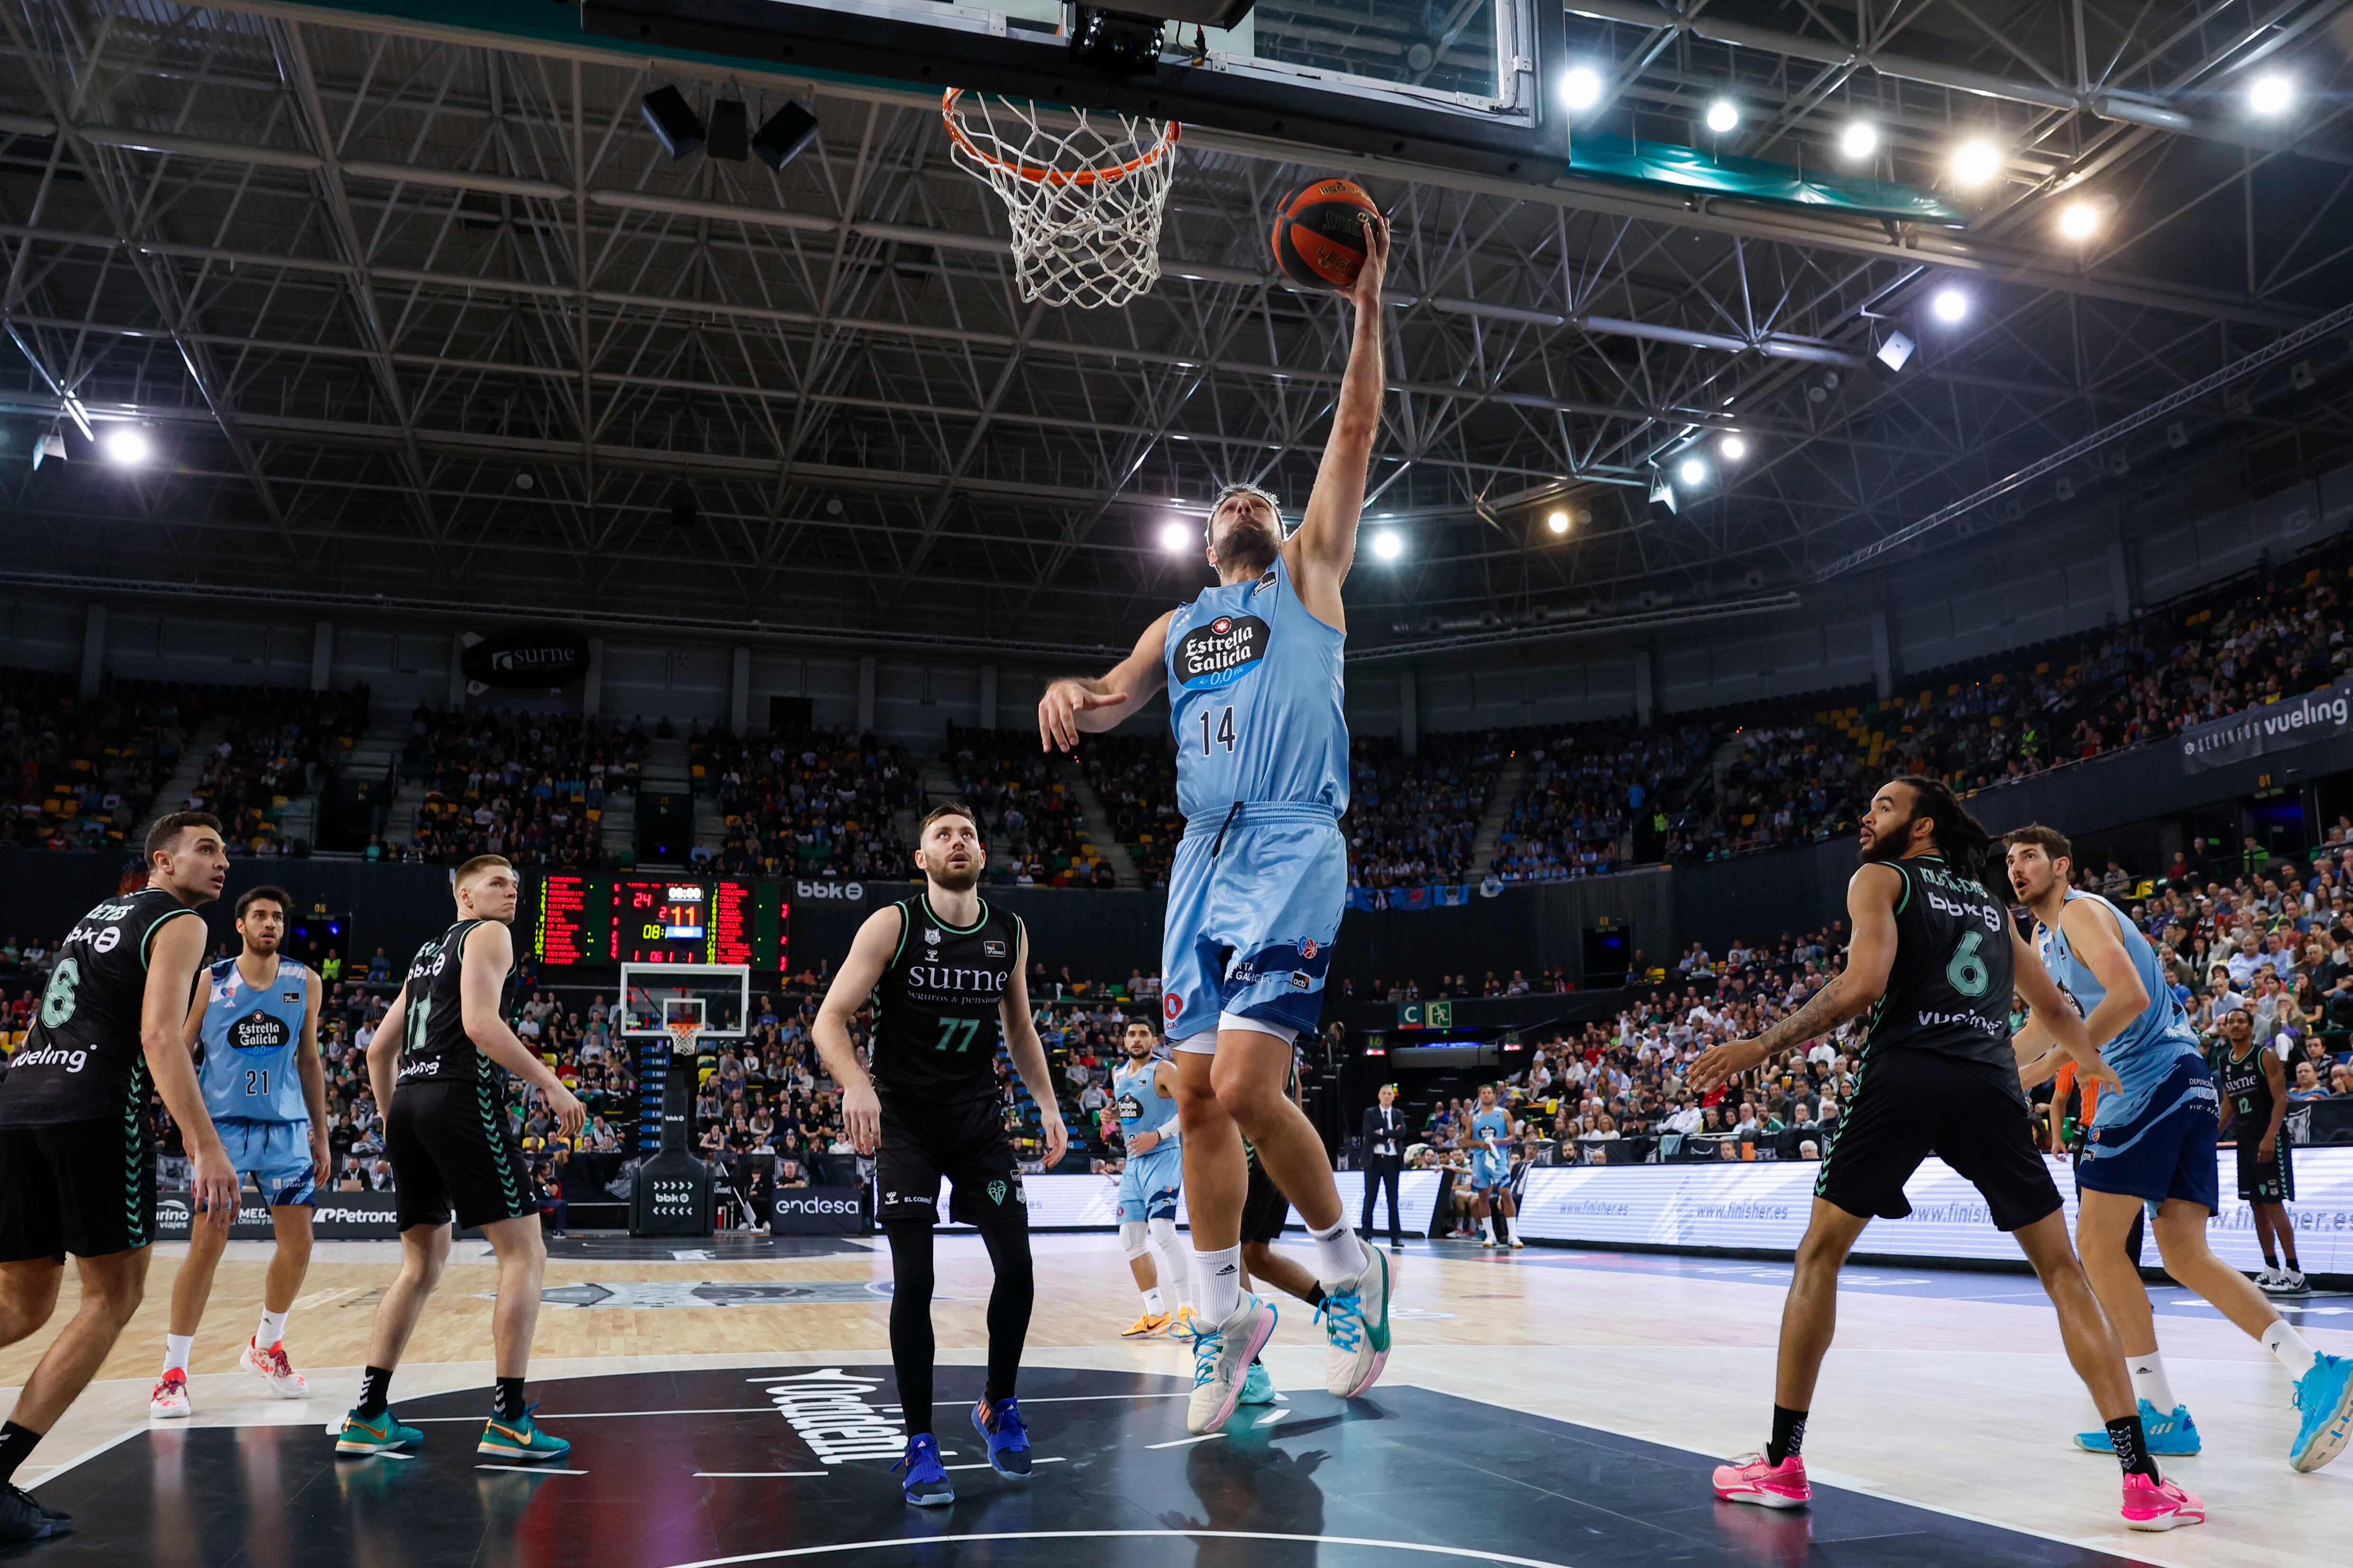
[[[2009,910],[1984,882],[1962,877],[1937,856],[1885,865],[1904,877],[1897,961],[1887,971],[1887,992],[1871,1009],[1864,1060],[1887,1051],[1937,1051],[2000,1070],[2017,1088]]]

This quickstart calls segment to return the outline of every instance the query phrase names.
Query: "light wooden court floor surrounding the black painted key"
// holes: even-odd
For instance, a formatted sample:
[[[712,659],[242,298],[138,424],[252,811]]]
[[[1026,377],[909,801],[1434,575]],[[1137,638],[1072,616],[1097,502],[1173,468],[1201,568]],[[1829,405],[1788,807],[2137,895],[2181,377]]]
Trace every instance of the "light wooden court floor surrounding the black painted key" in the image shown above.
[[[355,1399],[374,1300],[398,1246],[318,1246],[287,1331],[296,1366],[311,1378],[308,1401],[278,1401],[235,1368],[259,1312],[268,1246],[231,1244],[221,1262],[191,1366],[198,1425],[325,1427]],[[1031,1363],[1188,1371],[1174,1342],[1118,1338],[1139,1302],[1113,1237],[1038,1237],[1035,1248]],[[146,1305],[99,1380],[33,1455],[24,1481],[38,1488],[148,1425],[146,1399],[162,1363],[181,1251],[155,1248]],[[1289,1251],[1308,1253],[1304,1244]],[[1767,1429],[1784,1274],[1777,1265],[1412,1244],[1402,1260],[1398,1352],[1384,1382],[1732,1455],[1758,1448]],[[584,1305],[551,1302],[541,1312],[532,1375],[887,1361],[889,1302],[859,1291],[887,1276],[880,1244],[861,1241],[826,1255],[755,1262],[551,1258],[548,1291]],[[941,1361],[981,1359],[988,1279],[976,1239],[941,1239],[944,1300],[934,1307]],[[687,1295],[699,1284],[739,1291],[706,1293],[734,1295],[729,1305],[701,1305]],[[741,1286],[779,1284],[816,1288],[812,1300],[784,1305],[741,1300],[758,1295]],[[395,1382],[395,1403],[487,1389],[492,1286],[487,1248],[459,1244]],[[14,1399],[73,1305],[68,1269],[52,1328],[0,1349],[0,1406]],[[1311,1312],[1292,1300],[1280,1305],[1266,1363],[1285,1389],[1320,1387],[1322,1342]],[[2353,1354],[2353,1298],[2320,1298],[2301,1321],[2318,1347]],[[2122,1530],[2113,1462],[2068,1443],[2097,1415],[2031,1276],[1868,1269],[1842,1295],[1838,1328],[1807,1434],[1807,1462],[1821,1483],[2153,1563],[2341,1568],[2353,1561],[2353,1458],[2313,1476],[2287,1469],[2294,1429],[2287,1378],[2209,1312],[2158,1319],[2174,1387],[2205,1432],[2205,1453],[2174,1462],[2169,1474],[2212,1509],[2209,1523],[2172,1535]],[[1033,1415],[1033,1427],[1045,1420]]]

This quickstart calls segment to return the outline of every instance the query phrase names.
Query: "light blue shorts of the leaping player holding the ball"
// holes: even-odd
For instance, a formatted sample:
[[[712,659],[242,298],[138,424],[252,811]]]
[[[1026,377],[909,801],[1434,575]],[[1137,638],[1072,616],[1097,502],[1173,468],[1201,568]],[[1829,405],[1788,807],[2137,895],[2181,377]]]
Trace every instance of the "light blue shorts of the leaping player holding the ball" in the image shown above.
[[[1249,804],[1231,823],[1191,823],[1160,940],[1169,1041],[1205,1048],[1186,1041],[1214,1039],[1221,1013],[1313,1030],[1346,900],[1348,839],[1327,809]]]

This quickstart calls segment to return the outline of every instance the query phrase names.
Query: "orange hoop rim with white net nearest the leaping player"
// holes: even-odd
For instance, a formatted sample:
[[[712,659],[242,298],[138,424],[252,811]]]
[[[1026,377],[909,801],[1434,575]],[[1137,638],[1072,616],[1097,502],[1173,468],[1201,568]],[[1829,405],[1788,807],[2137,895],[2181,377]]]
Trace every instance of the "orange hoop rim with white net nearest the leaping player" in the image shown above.
[[[1005,197],[1021,299],[1092,310],[1160,282],[1174,120],[1073,108],[1078,125],[1054,129],[1035,103],[960,87],[939,113],[951,158]]]

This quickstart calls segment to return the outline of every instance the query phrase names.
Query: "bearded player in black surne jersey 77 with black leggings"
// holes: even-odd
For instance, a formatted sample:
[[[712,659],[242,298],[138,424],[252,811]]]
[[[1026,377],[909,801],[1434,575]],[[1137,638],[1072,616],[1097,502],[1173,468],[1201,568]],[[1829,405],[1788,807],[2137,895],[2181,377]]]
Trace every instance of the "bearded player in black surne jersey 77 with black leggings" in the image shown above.
[[[988,1382],[972,1429],[1000,1476],[1031,1476],[1028,1429],[1014,1380],[1028,1338],[1035,1276],[1028,1201],[1005,1138],[998,1044],[1028,1084],[1045,1124],[1052,1171],[1071,1145],[1054,1100],[1045,1046],[1028,1011],[1028,931],[974,889],[988,867],[981,825],[967,806],[932,806],[915,835],[922,893],[875,910],[849,943],[816,1011],[816,1053],[842,1086],[842,1121],[859,1154],[873,1154],[882,1190],[875,1218],[889,1239],[889,1359],[906,1413],[906,1500],[955,1502],[932,1432],[932,1225],[939,1178],[951,1213],[981,1232],[995,1286],[988,1291]],[[849,1020],[873,1004],[873,1048],[859,1063]]]

